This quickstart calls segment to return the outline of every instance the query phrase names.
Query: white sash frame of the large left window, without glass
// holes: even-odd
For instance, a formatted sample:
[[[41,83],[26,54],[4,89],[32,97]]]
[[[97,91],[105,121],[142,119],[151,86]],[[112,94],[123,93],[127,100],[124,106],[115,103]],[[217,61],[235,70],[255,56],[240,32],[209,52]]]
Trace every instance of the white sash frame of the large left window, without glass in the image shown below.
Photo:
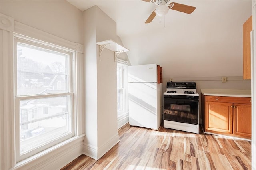
[[[48,49],[51,51],[57,51],[61,53],[65,53],[69,55],[68,62],[66,62],[66,65],[69,65],[69,69],[67,72],[67,92],[64,93],[52,93],[52,94],[42,94],[42,95],[24,95],[24,96],[17,96],[17,43],[25,43],[28,45],[33,45],[35,47]],[[14,127],[15,127],[15,158],[16,163],[20,162],[21,160],[24,160],[26,158],[29,158],[30,156],[33,156],[35,154],[38,154],[47,148],[50,148],[60,142],[63,142],[64,140],[70,139],[76,134],[76,114],[75,114],[75,103],[76,98],[74,97],[75,92],[75,77],[76,77],[76,51],[67,49],[64,47],[60,47],[58,45],[54,45],[51,43],[46,43],[40,40],[35,40],[32,38],[28,38],[25,36],[21,36],[18,34],[14,34]],[[46,97],[62,97],[62,96],[70,96],[70,111],[71,111],[71,132],[57,138],[54,141],[48,142],[47,144],[41,145],[40,147],[33,149],[29,152],[26,152],[24,154],[20,154],[20,101],[24,99],[43,99]]]

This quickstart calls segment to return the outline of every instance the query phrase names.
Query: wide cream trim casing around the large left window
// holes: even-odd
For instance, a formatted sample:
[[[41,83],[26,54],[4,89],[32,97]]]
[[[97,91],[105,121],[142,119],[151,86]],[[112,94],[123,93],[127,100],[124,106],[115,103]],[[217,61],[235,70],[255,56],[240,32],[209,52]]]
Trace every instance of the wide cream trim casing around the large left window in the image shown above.
[[[0,14],[1,19],[7,20],[5,24],[1,24],[1,53],[0,53],[0,91],[2,98],[0,98],[0,124],[2,147],[0,148],[1,161],[0,169],[35,169],[42,168],[42,164],[47,164],[47,167],[58,169],[63,167],[63,162],[68,161],[67,157],[63,157],[59,152],[71,154],[73,158],[80,155],[82,143],[84,140],[84,45],[76,42],[71,42],[59,36],[49,34],[37,28],[28,26],[21,22],[17,22],[14,18]],[[74,78],[74,110],[75,110],[75,136],[71,139],[65,140],[60,144],[44,150],[34,156],[31,156],[23,161],[16,163],[15,160],[15,145],[14,145],[14,34],[30,37],[35,41],[48,42],[70,49],[76,53],[74,58],[74,65],[76,66],[76,77]],[[4,82],[4,83],[3,83]],[[4,106],[4,107],[3,107]],[[54,162],[53,162],[54,160]]]

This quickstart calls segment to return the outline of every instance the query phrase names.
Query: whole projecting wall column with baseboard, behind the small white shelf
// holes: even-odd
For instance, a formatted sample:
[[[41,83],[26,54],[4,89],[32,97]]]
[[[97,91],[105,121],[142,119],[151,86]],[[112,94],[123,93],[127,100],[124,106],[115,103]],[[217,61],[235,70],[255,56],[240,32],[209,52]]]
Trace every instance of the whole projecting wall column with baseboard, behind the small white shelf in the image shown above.
[[[116,23],[97,6],[85,10],[83,15],[86,47],[84,154],[98,160],[119,141],[114,52],[104,49],[99,57],[96,45],[104,40],[116,41]]]

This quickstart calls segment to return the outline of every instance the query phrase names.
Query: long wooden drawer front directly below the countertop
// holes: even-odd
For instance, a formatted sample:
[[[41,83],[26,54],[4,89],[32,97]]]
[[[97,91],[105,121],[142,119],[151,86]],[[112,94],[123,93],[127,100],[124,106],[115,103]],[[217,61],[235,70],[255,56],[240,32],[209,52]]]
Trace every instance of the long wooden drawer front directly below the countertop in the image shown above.
[[[250,97],[205,96],[205,101],[251,104]]]

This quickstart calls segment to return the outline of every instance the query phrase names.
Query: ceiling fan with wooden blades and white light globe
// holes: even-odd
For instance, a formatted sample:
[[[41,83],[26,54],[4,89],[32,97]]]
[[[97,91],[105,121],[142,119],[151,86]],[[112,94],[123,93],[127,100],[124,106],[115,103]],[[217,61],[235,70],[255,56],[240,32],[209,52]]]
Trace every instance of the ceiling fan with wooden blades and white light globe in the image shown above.
[[[142,0],[150,3],[156,4],[158,7],[150,14],[148,19],[146,20],[146,24],[152,22],[155,16],[164,16],[167,14],[168,10],[176,10],[180,12],[184,12],[187,14],[191,14],[196,7],[188,6],[184,4],[179,4],[176,2],[170,2],[171,0]]]

